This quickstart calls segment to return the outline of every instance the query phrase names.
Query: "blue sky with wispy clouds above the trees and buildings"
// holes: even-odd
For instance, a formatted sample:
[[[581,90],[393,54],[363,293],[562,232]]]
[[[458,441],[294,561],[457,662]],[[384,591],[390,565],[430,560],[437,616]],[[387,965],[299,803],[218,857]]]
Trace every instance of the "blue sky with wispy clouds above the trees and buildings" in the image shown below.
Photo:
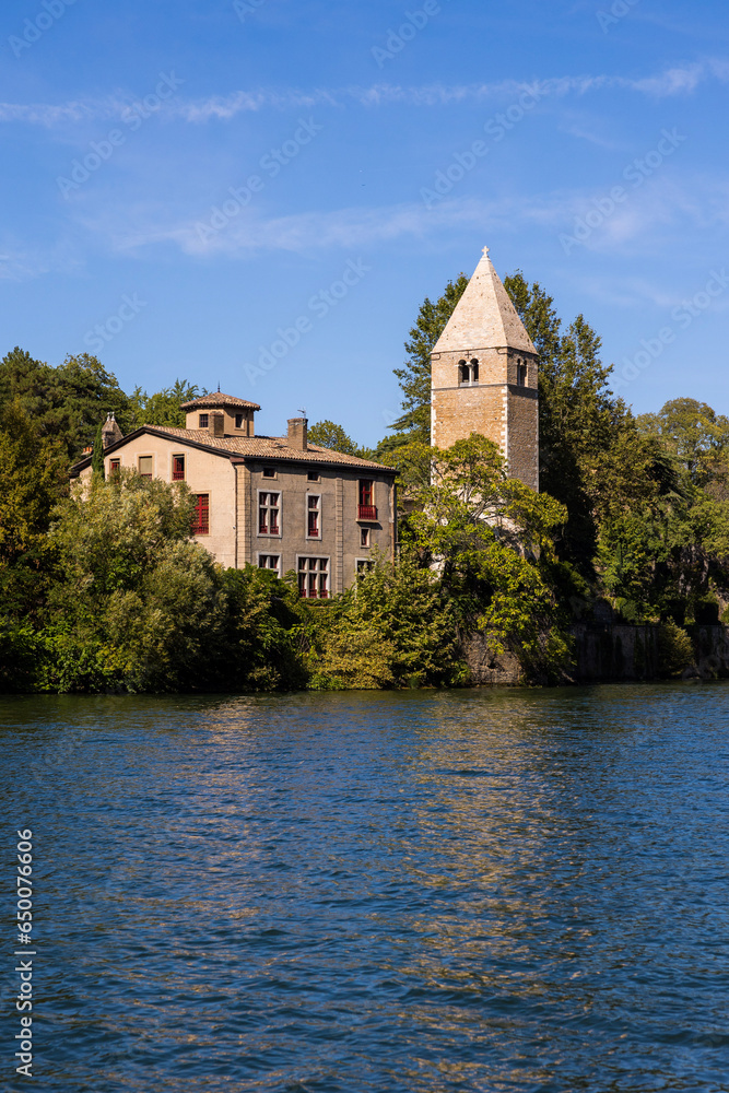
[[[374,444],[487,244],[637,412],[729,412],[718,0],[5,0],[0,48],[2,353]]]

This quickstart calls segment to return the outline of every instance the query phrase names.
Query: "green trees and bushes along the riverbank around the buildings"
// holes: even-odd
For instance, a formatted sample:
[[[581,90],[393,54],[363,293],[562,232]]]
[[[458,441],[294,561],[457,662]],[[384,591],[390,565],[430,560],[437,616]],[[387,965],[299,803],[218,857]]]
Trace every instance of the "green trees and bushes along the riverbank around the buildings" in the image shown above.
[[[68,467],[115,413],[124,432],[183,423],[185,380],[126,395],[89,355],[0,364],[0,689],[277,690],[460,685],[469,635],[516,656],[525,681],[568,680],[572,628],[660,625],[667,675],[692,625],[728,621],[729,420],[690,398],[635,416],[610,389],[600,339],[564,327],[520,273],[506,279],[540,355],[541,490],[506,478],[472,435],[430,444],[430,353],[467,284],[425,301],[397,369],[402,414],[376,450],[331,421],[316,443],[398,469],[400,545],[331,601],[294,574],[225,571],[190,534],[184,484]],[[98,445],[98,442],[97,442]]]

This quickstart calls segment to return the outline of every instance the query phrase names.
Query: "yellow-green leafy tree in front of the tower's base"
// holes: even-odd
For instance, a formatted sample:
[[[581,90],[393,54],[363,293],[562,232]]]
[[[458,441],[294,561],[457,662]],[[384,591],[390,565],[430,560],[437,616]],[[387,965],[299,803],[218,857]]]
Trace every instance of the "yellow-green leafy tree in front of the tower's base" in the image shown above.
[[[556,680],[571,651],[553,584],[563,505],[507,479],[498,447],[478,434],[447,451],[401,449],[401,531],[421,564],[440,574],[462,633],[484,631],[531,680]]]

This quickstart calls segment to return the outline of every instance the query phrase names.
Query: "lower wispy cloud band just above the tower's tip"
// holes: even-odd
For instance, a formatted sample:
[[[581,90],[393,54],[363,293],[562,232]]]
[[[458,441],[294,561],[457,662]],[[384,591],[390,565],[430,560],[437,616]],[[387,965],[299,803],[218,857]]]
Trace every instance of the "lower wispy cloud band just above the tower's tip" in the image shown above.
[[[145,209],[106,209],[84,218],[82,227],[117,254],[142,257],[151,248],[172,246],[197,259],[248,259],[266,250],[310,254],[327,249],[372,248],[400,238],[425,240],[437,234],[468,228],[479,237],[513,231],[539,231],[557,238],[593,208],[601,190],[558,189],[545,195],[508,195],[493,200],[462,198],[427,209],[422,202],[379,208],[351,207],[267,218],[247,209],[220,232],[200,232],[204,216],[169,214],[164,205]],[[618,207],[585,249],[605,256],[625,256],[639,245],[662,247],[670,233],[726,226],[729,222],[729,180],[656,176]],[[581,248],[580,248],[581,249]]]

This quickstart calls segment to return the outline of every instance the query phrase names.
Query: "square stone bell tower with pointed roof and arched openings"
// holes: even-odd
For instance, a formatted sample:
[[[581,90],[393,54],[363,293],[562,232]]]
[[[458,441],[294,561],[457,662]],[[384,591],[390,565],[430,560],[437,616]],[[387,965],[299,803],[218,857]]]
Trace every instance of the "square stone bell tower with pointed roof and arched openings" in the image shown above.
[[[510,478],[539,490],[539,356],[484,247],[432,355],[431,443],[471,433],[499,446]]]

